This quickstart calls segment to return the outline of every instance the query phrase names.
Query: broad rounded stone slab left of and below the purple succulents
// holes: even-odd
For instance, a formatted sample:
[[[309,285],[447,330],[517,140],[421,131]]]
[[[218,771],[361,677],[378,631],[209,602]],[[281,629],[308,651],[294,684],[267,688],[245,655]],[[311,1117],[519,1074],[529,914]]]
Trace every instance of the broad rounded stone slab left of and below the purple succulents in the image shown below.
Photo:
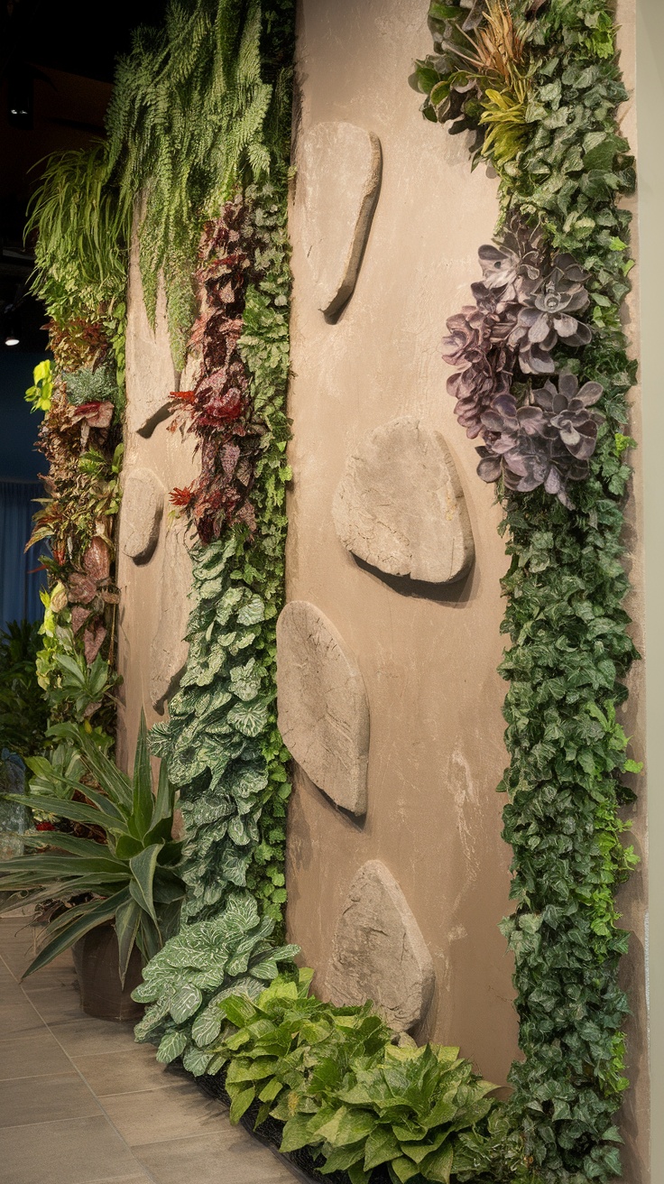
[[[475,558],[455,462],[414,417],[376,427],[349,457],[333,517],[343,546],[389,575],[452,584]]]

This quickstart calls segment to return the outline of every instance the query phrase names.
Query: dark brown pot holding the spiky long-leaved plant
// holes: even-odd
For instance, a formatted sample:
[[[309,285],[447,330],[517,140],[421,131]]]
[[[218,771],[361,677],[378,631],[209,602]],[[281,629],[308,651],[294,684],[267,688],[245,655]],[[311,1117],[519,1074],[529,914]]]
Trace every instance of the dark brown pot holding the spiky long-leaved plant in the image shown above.
[[[97,1019],[140,1019],[143,1005],[134,1003],[131,991],[142,979],[142,958],[134,946],[124,989],[120,982],[117,937],[108,922],[90,929],[72,947],[73,965],[80,987],[80,1004]]]

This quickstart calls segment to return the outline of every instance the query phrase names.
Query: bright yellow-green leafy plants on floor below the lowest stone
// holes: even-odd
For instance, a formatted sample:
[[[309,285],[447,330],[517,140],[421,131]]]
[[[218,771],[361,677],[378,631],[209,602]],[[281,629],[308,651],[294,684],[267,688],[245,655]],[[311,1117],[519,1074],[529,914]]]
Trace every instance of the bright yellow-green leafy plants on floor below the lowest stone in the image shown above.
[[[418,1048],[410,1037],[395,1044],[370,1004],[322,1003],[308,993],[311,974],[279,978],[253,1002],[230,996],[217,1005],[226,1023],[220,1040],[205,1042],[205,1072],[227,1064],[231,1121],[260,1102],[256,1125],[267,1115],[283,1122],[282,1151],[315,1148],[320,1171],[347,1172],[353,1184],[367,1184],[381,1165],[393,1184],[449,1182],[452,1171],[473,1178],[457,1173],[455,1157],[468,1171],[486,1156],[479,1127],[495,1087],[457,1048]],[[464,1147],[462,1131],[475,1144]]]

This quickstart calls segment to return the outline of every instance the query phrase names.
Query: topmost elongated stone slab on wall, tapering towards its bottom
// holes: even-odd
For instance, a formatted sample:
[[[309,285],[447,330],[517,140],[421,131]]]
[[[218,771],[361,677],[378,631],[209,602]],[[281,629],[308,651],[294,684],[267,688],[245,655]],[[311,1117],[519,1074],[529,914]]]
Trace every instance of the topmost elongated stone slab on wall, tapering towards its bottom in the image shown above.
[[[380,188],[380,140],[354,123],[317,123],[302,140],[297,197],[321,311],[350,296]]]

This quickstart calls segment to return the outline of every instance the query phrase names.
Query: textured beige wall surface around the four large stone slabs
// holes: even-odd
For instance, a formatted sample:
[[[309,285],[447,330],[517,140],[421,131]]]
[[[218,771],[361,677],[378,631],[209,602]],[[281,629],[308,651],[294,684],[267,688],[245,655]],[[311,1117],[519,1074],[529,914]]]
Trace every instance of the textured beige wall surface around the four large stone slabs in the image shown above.
[[[497,215],[496,181],[482,167],[470,173],[464,137],[426,123],[407,86],[412,60],[431,47],[426,7],[423,0],[302,0],[299,9],[299,143],[316,123],[347,120],[378,134],[383,166],[355,292],[336,323],[316,307],[302,247],[305,219],[297,180],[291,208],[295,478],[288,598],[317,605],[355,654],[372,732],[363,822],[337,811],[296,772],[289,931],[322,986],[347,887],[366,860],[382,860],[433,955],[434,999],[415,1036],[460,1044],[488,1077],[502,1083],[517,1051],[512,966],[497,929],[510,908],[510,852],[499,837],[504,802],[495,792],[507,760],[501,715],[505,686],[496,674],[503,644],[499,578],[507,559],[492,489],[475,475],[473,443],[456,424],[445,391],[449,367],[439,355],[445,318],[468,302],[470,282],[478,278],[477,247],[490,239]],[[632,0],[621,5],[619,18],[631,86]],[[632,136],[631,108],[624,118]],[[627,314],[634,332],[636,307],[632,301]],[[402,414],[420,416],[444,433],[475,535],[470,575],[431,597],[405,594],[402,584],[361,567],[339,542],[331,519],[348,453],[368,431]],[[413,491],[417,480],[413,472]],[[637,584],[631,607],[640,620],[637,500],[630,514],[627,545]],[[626,718],[637,755],[642,677],[639,668]],[[643,804],[636,824],[643,849],[642,818]],[[624,892],[621,907],[624,924],[636,931],[624,970],[634,1010],[625,1178],[646,1184],[643,870]]]

